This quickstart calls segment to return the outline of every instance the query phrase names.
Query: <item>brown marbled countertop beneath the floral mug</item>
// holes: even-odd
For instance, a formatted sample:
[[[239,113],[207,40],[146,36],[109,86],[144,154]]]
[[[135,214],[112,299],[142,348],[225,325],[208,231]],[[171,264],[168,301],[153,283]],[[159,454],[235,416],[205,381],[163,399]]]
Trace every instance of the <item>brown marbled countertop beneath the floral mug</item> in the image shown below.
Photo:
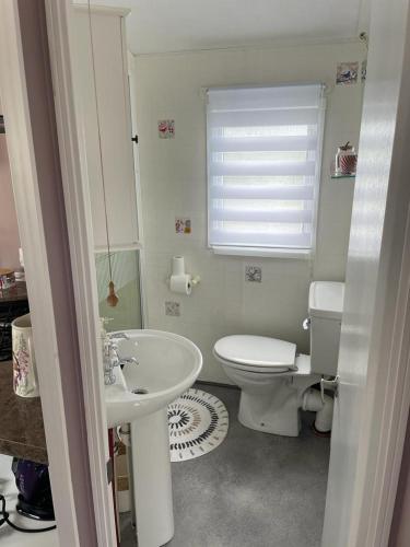
[[[39,397],[13,391],[13,363],[0,362],[0,454],[48,463]]]

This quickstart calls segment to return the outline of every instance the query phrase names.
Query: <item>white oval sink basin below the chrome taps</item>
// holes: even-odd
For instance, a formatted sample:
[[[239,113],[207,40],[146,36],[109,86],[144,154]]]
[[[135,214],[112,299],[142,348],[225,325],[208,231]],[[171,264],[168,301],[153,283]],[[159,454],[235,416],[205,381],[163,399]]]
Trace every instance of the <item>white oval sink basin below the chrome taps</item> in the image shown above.
[[[202,368],[199,349],[187,338],[161,330],[127,330],[118,341],[120,357],[139,364],[115,369],[116,382],[105,388],[108,427],[155,412],[185,393]]]

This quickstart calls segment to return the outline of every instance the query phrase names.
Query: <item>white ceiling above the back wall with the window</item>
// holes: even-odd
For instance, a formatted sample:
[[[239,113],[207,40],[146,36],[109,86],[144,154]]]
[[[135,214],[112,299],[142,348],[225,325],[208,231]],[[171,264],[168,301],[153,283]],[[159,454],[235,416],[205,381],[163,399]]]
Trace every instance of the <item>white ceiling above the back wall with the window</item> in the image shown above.
[[[73,0],[86,3],[86,0]],[[370,0],[92,0],[131,8],[133,54],[356,38]]]

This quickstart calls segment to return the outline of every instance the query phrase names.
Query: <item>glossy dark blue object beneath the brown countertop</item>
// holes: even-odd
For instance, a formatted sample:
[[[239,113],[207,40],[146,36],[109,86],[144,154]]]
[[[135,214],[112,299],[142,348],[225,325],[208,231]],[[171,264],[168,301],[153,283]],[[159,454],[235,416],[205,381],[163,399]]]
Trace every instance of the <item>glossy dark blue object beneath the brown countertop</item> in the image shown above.
[[[19,513],[36,521],[54,521],[48,466],[14,457],[12,470],[20,492]]]

